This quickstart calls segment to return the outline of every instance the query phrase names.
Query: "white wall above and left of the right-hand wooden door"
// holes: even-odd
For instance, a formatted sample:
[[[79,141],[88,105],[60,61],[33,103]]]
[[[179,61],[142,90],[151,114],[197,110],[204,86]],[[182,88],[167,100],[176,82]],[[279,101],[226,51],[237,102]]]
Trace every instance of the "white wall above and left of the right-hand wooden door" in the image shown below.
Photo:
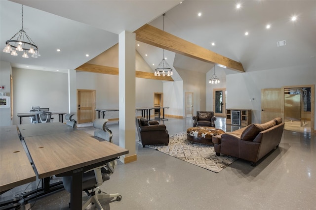
[[[316,70],[311,66],[292,66],[227,75],[226,107],[252,109],[252,122],[260,123],[261,89],[313,84],[316,84]]]

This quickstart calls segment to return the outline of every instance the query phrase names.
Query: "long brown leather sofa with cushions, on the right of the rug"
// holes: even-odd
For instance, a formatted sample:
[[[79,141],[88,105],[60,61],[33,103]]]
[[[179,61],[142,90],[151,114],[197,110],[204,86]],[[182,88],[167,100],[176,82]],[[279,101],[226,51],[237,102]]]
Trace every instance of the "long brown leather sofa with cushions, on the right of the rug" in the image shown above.
[[[221,153],[250,161],[252,166],[276,149],[281,141],[284,122],[281,118],[263,124],[250,124],[239,130],[212,137],[216,155]]]

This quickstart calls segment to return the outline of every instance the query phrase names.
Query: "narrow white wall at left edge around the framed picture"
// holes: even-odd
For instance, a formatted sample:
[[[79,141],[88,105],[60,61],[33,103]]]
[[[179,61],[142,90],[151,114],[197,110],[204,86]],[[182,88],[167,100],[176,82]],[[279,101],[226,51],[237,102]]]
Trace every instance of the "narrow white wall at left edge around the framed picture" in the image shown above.
[[[4,86],[4,90],[0,92],[5,92],[6,96],[10,96],[11,92],[11,65],[9,62],[0,61],[0,86]],[[0,108],[0,126],[12,125],[11,121],[11,105],[10,108]]]

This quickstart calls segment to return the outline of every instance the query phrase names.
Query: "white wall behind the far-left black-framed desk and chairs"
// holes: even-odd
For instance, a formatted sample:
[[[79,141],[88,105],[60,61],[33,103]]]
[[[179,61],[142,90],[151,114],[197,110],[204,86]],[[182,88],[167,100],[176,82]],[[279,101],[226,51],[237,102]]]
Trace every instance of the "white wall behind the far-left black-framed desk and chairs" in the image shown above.
[[[49,111],[68,112],[68,74],[12,68],[13,124],[19,124],[17,113],[29,112],[31,106],[48,107]],[[58,121],[58,115],[53,115]],[[22,123],[30,123],[22,118]]]

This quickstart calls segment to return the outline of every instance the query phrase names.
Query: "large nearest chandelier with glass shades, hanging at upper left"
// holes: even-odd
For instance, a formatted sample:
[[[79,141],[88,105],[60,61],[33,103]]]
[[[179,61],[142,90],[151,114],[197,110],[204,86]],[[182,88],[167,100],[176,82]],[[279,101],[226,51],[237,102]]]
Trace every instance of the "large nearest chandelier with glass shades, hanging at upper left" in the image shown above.
[[[28,36],[28,34],[23,29],[23,5],[22,5],[22,29],[14,34],[10,40],[5,42],[6,46],[2,50],[4,53],[11,53],[12,56],[17,56],[16,51],[21,51],[23,53],[22,57],[28,59],[29,56],[26,53],[30,53],[32,58],[40,57],[39,47],[34,43],[34,41]]]

